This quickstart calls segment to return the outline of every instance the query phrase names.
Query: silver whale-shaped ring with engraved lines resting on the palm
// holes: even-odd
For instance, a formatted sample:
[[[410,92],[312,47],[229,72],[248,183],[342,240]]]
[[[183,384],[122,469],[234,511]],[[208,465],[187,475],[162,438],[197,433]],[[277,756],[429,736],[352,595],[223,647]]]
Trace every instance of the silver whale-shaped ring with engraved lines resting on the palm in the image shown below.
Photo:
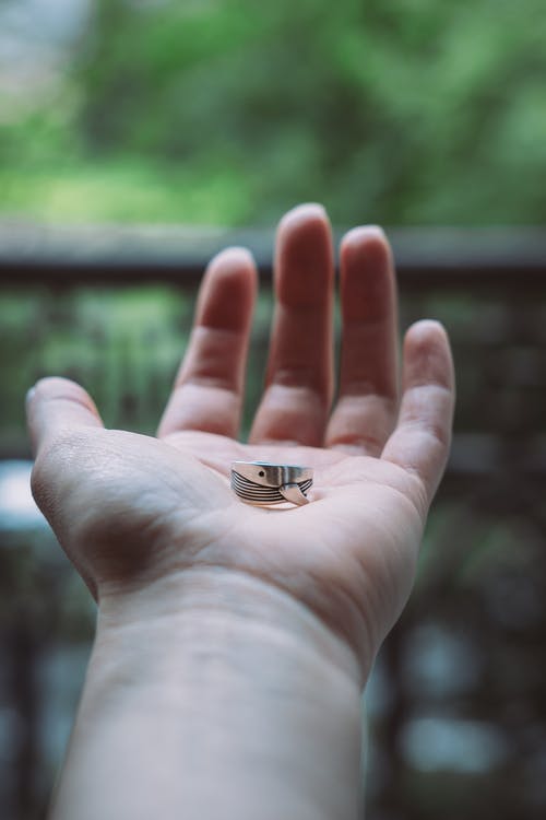
[[[233,461],[232,489],[247,504],[309,504],[312,469],[268,461]]]

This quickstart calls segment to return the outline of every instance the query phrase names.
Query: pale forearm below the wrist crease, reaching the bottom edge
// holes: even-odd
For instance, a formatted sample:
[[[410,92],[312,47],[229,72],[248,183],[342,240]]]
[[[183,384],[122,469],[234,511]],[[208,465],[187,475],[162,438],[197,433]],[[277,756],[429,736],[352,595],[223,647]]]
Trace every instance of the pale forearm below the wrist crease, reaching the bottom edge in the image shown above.
[[[169,584],[104,602],[52,819],[356,819],[351,651],[270,584]]]

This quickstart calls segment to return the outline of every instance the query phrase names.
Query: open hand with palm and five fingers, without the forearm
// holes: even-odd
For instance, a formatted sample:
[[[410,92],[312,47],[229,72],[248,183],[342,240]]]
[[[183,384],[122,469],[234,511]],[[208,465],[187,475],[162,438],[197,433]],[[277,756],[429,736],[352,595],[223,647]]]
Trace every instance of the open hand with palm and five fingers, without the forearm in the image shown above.
[[[157,438],[105,430],[72,382],[40,380],[27,402],[33,491],[99,606],[191,572],[229,571],[281,590],[341,636],[366,670],[410,594],[450,441],[447,336],[406,335],[399,401],[396,296],[382,232],[341,246],[343,347],[334,391],[331,232],[318,206],[281,222],[264,393],[237,441],[257,274],[248,251],[213,259]],[[245,505],[233,460],[314,468],[312,503]],[[155,591],[154,591],[155,590]]]

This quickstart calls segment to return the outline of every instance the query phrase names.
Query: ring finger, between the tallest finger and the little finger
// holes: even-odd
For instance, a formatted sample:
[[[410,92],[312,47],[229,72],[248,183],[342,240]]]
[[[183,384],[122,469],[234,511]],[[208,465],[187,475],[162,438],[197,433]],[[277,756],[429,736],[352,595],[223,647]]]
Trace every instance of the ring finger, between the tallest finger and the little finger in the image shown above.
[[[378,456],[397,408],[396,284],[383,232],[356,227],[341,246],[340,394],[327,445]]]

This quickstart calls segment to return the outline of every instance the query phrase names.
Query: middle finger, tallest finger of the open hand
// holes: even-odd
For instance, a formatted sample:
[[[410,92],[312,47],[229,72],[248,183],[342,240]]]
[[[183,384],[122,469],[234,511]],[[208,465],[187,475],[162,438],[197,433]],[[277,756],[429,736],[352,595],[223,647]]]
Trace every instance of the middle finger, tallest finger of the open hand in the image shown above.
[[[324,209],[305,204],[281,221],[276,307],[265,393],[250,441],[322,444],[332,400],[333,250]]]

